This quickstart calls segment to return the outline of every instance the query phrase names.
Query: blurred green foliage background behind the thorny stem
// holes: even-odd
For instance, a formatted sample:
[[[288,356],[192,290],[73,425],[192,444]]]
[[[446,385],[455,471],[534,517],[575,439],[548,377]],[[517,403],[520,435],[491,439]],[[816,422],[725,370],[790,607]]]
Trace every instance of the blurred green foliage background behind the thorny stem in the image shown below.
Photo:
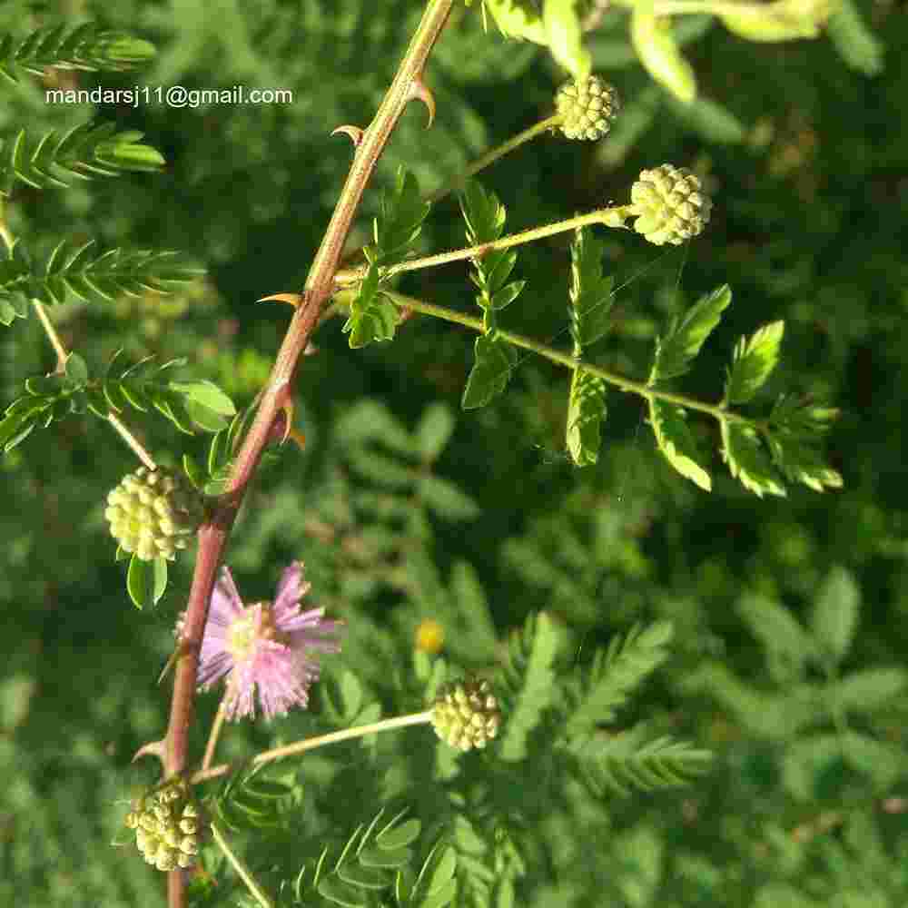
[[[24,17],[25,5],[8,5],[0,29],[22,34],[73,6],[32,5]],[[64,237],[95,238],[104,249],[178,249],[209,269],[201,290],[158,310],[65,303],[54,317],[66,345],[98,369],[119,348],[133,360],[187,356],[197,378],[218,381],[245,406],[288,314],[253,301],[301,288],[350,161],[346,140],[329,133],[369,122],[421,4],[78,6],[159,52],[139,74],[78,74],[79,87],[294,92],[292,104],[94,112],[44,104],[41,80],[28,76],[4,86],[0,106],[4,136],[23,124],[65,130],[96,113],[118,131],[140,130],[167,160],[162,174],[16,187],[9,226],[35,252]],[[564,803],[547,801],[560,785],[528,780],[538,788],[526,828],[502,816],[494,860],[471,853],[469,830],[458,832],[462,865],[499,899],[516,890],[519,903],[540,908],[908,902],[900,668],[908,652],[908,69],[897,63],[908,52],[908,21],[888,2],[848,5],[847,15],[883,35],[888,65],[880,68],[881,48],[869,39],[849,42],[847,21],[831,31],[851,68],[823,38],[749,44],[707,17],[685,20],[688,30],[696,25],[685,53],[700,95],[684,106],[635,63],[627,15],[607,12],[588,38],[594,68],[627,101],[616,133],[595,145],[539,140],[484,174],[516,231],[622,202],[644,167],[671,161],[706,173],[713,222],[689,247],[664,252],[633,234],[606,234],[620,290],[596,360],[643,378],[656,326],[727,282],[735,305],[697,360],[691,392],[717,399],[735,338],[785,320],[770,390],[841,408],[830,450],[844,489],[799,487],[760,500],[716,469],[707,495],[661,459],[640,401],[616,394],[597,465],[577,469],[564,450],[567,371],[522,356],[505,393],[464,413],[474,336],[417,317],[393,343],[364,350],[350,350],[340,321],[321,328],[296,390],[306,447],[262,471],[242,508],[228,551],[241,591],[264,594],[301,558],[312,601],[349,624],[343,654],[325,660],[326,688],[350,669],[386,715],[421,707],[413,650],[429,619],[444,632],[449,660],[468,668],[494,661],[496,635],[532,611],[576,635],[581,664],[637,620],[674,623],[672,658],[609,732],[644,716],[658,734],[714,749],[713,771],[676,795],[599,802],[570,788]],[[425,130],[419,105],[404,114],[367,194],[357,245],[369,241],[379,191],[400,163],[434,191],[548,115],[563,74],[535,45],[482,35],[476,10],[457,7],[428,79],[436,121]],[[435,206],[420,242],[462,244],[455,203]],[[568,273],[568,239],[521,252],[516,274],[527,287],[502,327],[566,344]],[[468,311],[466,276],[463,265],[423,271],[400,290]],[[0,403],[53,361],[34,317],[0,329]],[[155,678],[170,655],[190,559],[173,566],[158,607],[137,613],[103,517],[107,490],[134,459],[97,419],[70,418],[49,433],[0,460],[0,901],[162,903],[163,878],[109,843],[126,838],[118,801],[153,779],[150,762],[130,760],[163,734],[168,686]],[[184,439],[164,419],[143,423],[143,435],[165,462],[177,464],[184,450],[204,457],[203,439]],[[488,616],[476,617],[487,605]],[[199,700],[197,752],[213,701]],[[247,755],[321,727],[319,702],[313,697],[312,715],[272,727],[231,727],[220,753]],[[432,817],[449,771],[433,753],[426,730],[410,729],[307,757],[296,834],[345,839],[386,795]],[[381,785],[367,765],[388,773]],[[488,757],[470,765],[477,804],[495,772]],[[499,793],[498,804],[520,796]],[[487,828],[498,822],[481,819]],[[296,844],[289,836],[275,861]],[[232,880],[220,873],[220,903]]]

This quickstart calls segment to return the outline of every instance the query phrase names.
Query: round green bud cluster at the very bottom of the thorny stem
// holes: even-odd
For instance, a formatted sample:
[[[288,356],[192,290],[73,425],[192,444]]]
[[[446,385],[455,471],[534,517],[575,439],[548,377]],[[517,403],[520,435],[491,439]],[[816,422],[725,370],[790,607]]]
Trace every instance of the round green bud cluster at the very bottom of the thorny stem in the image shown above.
[[[135,830],[135,844],[145,861],[158,870],[168,872],[196,863],[199,808],[183,780],[134,802],[125,824]]]

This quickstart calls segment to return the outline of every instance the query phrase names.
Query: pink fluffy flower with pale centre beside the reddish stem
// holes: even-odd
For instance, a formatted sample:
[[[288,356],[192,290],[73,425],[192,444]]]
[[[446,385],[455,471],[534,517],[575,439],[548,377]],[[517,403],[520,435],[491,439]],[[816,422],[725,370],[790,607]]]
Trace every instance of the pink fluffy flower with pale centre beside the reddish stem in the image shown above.
[[[342,621],[326,621],[324,608],[300,611],[310,588],[301,563],[294,561],[273,602],[243,606],[230,568],[222,568],[202,637],[198,679],[205,690],[226,679],[228,719],[255,715],[256,689],[266,719],[285,715],[291,706],[305,707],[309,686],[319,677],[315,654],[341,651],[340,643],[324,635],[339,632]]]

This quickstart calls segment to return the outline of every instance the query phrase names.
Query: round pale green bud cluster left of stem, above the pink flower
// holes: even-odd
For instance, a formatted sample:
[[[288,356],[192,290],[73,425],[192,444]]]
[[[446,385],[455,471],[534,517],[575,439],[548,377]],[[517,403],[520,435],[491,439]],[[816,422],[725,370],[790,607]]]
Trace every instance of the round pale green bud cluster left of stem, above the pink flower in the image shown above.
[[[140,467],[107,496],[104,517],[123,551],[143,561],[173,561],[199,528],[202,511],[202,496],[182,473]]]

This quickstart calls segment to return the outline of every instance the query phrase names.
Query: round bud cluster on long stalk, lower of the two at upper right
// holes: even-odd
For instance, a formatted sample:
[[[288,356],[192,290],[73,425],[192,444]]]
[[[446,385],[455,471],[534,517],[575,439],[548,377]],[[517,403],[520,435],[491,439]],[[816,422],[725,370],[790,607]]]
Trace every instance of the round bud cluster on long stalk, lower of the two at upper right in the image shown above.
[[[680,245],[703,231],[713,202],[686,167],[662,164],[640,173],[630,191],[634,230],[656,246]]]

